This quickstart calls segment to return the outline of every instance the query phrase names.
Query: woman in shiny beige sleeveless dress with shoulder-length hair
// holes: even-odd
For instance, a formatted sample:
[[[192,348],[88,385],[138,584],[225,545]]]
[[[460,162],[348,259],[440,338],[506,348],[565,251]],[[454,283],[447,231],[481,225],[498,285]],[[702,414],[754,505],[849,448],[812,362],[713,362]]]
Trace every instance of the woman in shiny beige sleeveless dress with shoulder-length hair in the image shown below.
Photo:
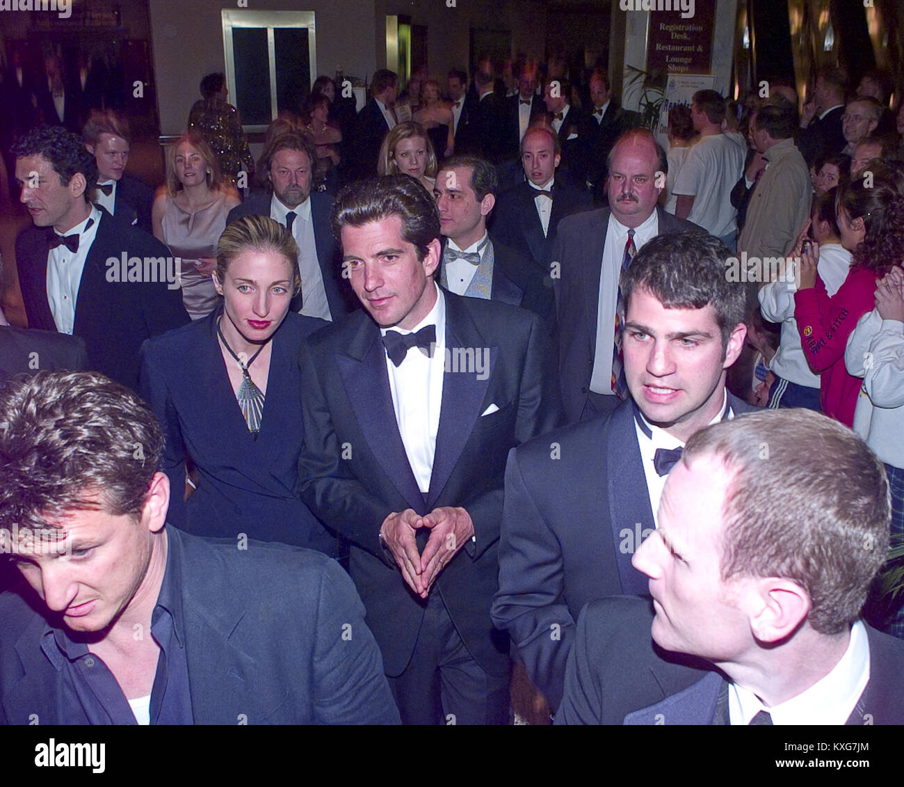
[[[182,259],[182,299],[192,319],[206,317],[220,302],[211,278],[214,250],[226,217],[238,204],[238,194],[198,131],[189,131],[168,148],[166,185],[156,195],[151,222],[155,238]]]

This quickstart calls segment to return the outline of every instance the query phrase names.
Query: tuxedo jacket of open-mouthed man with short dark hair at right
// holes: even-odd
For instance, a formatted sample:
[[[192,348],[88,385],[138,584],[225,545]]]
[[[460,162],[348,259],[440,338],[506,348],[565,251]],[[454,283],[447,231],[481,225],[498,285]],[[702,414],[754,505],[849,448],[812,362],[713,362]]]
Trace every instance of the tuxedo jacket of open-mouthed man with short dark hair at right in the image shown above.
[[[731,394],[729,403],[736,414],[753,409]],[[493,622],[552,708],[584,604],[647,593],[631,557],[654,529],[634,403],[509,454]]]

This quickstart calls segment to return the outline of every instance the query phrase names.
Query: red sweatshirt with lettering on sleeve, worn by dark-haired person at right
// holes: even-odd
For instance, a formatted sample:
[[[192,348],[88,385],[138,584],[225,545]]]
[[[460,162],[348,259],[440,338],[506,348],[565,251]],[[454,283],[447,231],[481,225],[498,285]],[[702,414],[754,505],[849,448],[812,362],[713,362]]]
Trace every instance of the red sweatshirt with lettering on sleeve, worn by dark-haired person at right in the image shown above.
[[[832,298],[823,280],[816,286],[795,293],[797,330],[804,356],[815,374],[820,375],[819,399],[823,412],[853,427],[853,411],[863,381],[848,374],[844,348],[857,320],[875,307],[874,295],[879,277],[871,270],[853,270]]]

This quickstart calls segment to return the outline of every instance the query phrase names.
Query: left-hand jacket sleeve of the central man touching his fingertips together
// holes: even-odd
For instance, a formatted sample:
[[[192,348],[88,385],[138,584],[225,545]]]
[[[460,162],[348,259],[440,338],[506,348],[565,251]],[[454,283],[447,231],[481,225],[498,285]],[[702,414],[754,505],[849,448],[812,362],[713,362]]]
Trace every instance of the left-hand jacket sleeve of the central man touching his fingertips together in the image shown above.
[[[301,499],[326,526],[395,567],[380,544],[380,528],[392,508],[364,488],[349,469],[349,460],[342,458],[344,446],[336,436],[321,375],[307,343],[299,364],[305,381],[301,397],[305,442],[298,457]]]

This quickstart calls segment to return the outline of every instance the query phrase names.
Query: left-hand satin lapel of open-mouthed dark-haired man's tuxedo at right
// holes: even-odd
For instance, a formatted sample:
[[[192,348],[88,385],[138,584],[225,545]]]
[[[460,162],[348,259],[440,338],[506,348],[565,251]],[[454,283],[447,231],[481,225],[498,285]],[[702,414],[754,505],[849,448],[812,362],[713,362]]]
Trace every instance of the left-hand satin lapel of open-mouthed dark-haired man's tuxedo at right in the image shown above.
[[[634,423],[634,404],[623,403],[610,416],[609,441],[607,444],[607,484],[609,498],[609,524],[612,540],[616,548],[618,576],[622,593],[626,595],[646,595],[647,579],[631,564],[631,558],[640,546],[644,531],[654,530],[653,508],[646,488],[644,465],[637,445]],[[633,550],[623,551],[622,531],[631,536]]]

